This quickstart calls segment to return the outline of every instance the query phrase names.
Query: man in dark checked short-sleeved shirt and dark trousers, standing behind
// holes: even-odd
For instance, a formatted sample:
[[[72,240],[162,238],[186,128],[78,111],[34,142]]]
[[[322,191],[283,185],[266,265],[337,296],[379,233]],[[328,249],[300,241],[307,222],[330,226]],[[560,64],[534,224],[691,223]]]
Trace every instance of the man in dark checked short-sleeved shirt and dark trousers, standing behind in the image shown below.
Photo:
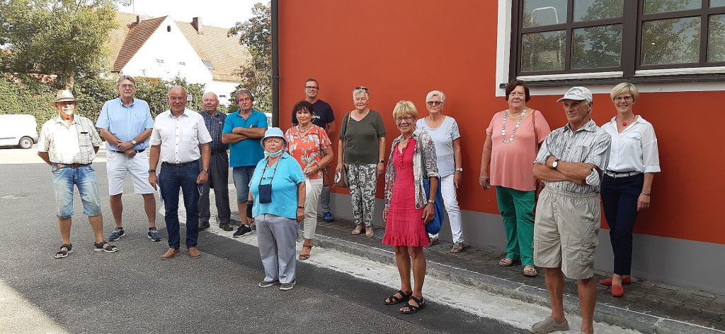
[[[209,210],[209,192],[210,188],[214,189],[215,203],[217,205],[217,216],[219,218],[219,228],[224,231],[232,231],[229,225],[231,218],[231,209],[229,207],[229,155],[227,154],[228,144],[222,142],[222,129],[226,114],[217,110],[219,99],[215,93],[204,93],[202,97],[202,108],[200,112],[204,117],[204,124],[212,136],[212,158],[209,168],[209,182],[202,184],[203,192],[199,197],[199,231],[209,228],[209,219],[211,213]]]

